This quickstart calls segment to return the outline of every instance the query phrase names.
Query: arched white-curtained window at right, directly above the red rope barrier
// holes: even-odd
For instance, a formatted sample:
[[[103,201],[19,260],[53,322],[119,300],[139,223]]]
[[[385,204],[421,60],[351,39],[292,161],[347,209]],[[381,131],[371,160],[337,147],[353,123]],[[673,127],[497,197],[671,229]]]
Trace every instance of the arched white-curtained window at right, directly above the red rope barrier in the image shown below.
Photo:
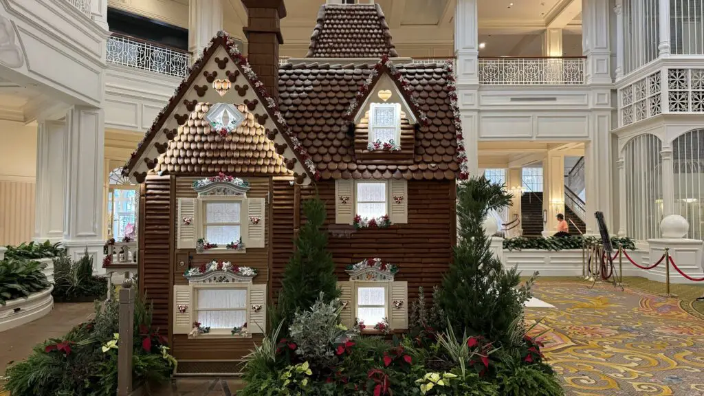
[[[626,172],[626,230],[636,240],[660,236],[662,220],[662,142],[639,135],[623,149]]]

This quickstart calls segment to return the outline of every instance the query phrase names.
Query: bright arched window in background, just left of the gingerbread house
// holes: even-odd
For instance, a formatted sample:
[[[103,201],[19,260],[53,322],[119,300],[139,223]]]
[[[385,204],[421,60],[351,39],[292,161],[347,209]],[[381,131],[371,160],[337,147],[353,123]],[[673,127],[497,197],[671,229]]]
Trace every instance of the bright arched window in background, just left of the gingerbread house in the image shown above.
[[[115,240],[137,238],[137,185],[115,168],[108,176],[108,235]]]

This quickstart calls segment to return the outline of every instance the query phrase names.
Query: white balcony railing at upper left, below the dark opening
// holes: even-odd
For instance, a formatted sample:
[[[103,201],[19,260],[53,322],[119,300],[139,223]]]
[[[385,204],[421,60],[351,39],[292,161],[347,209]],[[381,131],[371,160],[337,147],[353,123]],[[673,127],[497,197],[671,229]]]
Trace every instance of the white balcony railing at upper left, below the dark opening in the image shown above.
[[[108,38],[106,61],[181,78],[186,76],[190,63],[185,51],[115,33]]]

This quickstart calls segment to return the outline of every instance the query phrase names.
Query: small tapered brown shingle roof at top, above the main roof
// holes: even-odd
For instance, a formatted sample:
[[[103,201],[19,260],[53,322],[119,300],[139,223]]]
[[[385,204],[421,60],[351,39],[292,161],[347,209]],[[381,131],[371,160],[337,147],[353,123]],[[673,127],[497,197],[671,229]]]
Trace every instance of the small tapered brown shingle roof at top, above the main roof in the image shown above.
[[[320,6],[306,58],[398,56],[379,4]]]

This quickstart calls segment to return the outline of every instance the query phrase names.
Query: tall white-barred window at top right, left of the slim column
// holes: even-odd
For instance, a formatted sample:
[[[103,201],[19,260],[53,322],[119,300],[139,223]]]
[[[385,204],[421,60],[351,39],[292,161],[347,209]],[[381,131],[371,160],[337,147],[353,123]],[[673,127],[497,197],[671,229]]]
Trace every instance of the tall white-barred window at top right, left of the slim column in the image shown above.
[[[674,0],[673,0],[674,1]],[[624,74],[658,58],[658,0],[624,0]]]

